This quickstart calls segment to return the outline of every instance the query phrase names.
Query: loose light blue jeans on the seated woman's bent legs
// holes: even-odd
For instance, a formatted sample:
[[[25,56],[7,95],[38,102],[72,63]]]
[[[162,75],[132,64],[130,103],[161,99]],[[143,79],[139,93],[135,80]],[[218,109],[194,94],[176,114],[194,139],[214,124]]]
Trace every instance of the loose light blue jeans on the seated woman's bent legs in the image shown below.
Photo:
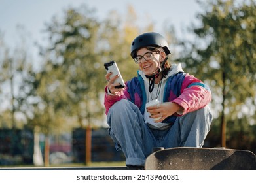
[[[166,130],[151,129],[139,108],[126,99],[115,103],[108,112],[109,135],[117,150],[126,156],[126,165],[145,164],[154,147],[202,147],[210,131],[212,115],[208,107],[177,118]]]

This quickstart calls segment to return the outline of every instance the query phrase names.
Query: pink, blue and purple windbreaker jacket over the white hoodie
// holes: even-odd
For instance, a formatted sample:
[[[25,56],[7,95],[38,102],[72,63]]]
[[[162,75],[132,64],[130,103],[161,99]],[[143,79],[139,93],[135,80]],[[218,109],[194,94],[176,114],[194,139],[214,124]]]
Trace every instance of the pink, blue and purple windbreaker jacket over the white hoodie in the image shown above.
[[[107,86],[105,87],[105,114],[108,113],[109,108],[120,101],[121,99],[128,99],[141,111],[143,115],[145,112],[145,104],[147,103],[146,90],[144,80],[141,75],[132,78],[126,82],[126,88],[117,95],[108,95]],[[206,107],[211,101],[211,92],[201,80],[195,78],[182,69],[174,75],[169,76],[166,85],[164,86],[164,101],[174,102],[183,107],[182,114],[173,114],[166,118],[164,123],[174,123],[177,116],[182,116],[188,112],[193,112],[200,108]]]

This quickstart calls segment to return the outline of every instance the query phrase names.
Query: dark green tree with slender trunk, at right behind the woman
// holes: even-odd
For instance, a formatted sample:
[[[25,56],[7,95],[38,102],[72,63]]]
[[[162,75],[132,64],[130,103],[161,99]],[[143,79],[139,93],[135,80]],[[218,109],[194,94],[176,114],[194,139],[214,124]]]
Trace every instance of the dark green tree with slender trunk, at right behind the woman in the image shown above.
[[[255,124],[250,108],[255,108],[256,97],[256,6],[255,1],[234,0],[200,4],[206,12],[198,15],[202,25],[192,29],[196,41],[183,42],[183,50],[189,51],[177,61],[211,86],[221,118],[221,146],[226,146],[227,121],[247,116]]]

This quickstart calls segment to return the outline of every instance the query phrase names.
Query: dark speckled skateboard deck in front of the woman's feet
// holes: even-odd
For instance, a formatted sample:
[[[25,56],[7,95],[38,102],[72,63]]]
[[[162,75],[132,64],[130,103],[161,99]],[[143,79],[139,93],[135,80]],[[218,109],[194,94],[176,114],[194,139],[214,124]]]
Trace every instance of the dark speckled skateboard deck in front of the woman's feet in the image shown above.
[[[256,169],[256,156],[248,150],[225,148],[168,148],[149,155],[146,170]]]

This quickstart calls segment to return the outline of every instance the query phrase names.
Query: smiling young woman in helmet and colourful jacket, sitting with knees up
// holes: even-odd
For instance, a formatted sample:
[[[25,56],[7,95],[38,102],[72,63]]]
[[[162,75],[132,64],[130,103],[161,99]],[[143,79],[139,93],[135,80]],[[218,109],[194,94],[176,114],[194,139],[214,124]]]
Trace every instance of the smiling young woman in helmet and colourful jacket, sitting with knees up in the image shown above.
[[[137,77],[115,88],[119,76],[105,75],[105,109],[109,135],[126,165],[143,168],[154,147],[202,147],[212,115],[209,88],[170,65],[168,43],[159,33],[143,33],[132,41],[131,56],[139,65]],[[160,104],[146,107],[150,101]]]

